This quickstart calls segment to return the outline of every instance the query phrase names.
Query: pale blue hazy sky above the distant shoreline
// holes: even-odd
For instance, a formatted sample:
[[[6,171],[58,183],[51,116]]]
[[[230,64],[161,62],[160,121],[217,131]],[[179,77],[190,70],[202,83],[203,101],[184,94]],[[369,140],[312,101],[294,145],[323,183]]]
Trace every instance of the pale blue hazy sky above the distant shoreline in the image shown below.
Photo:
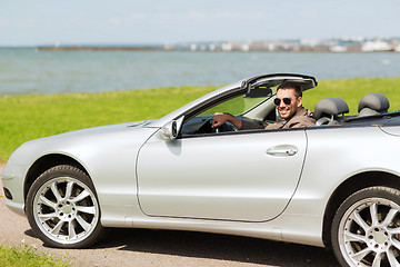
[[[399,0],[1,0],[0,46],[400,37]]]

